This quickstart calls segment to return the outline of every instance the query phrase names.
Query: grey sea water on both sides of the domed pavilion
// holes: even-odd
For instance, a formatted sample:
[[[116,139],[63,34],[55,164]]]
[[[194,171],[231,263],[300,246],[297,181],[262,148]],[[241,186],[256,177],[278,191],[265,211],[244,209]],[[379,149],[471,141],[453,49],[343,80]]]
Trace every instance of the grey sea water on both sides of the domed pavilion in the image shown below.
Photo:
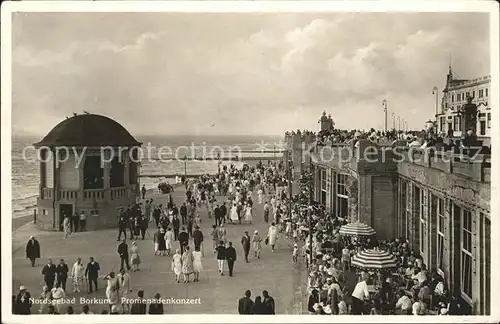
[[[12,139],[12,211],[14,218],[32,214],[36,207],[40,164],[28,162],[26,158],[35,159],[36,153],[34,150],[24,149],[40,139],[19,136]],[[216,173],[217,161],[188,161],[185,165],[184,161],[171,159],[172,157],[216,157],[217,153],[220,153],[222,157],[241,155],[243,157],[270,158],[273,153],[262,153],[262,150],[282,148],[283,138],[279,136],[148,136],[137,137],[137,140],[143,143],[145,155],[141,163],[141,174],[182,175],[185,166],[187,174]],[[160,150],[160,148],[162,149]],[[257,152],[238,153],[239,150]],[[238,163],[233,162],[233,164]],[[139,181],[141,186],[144,184],[146,188],[155,188],[158,183],[165,181],[165,179],[141,177]]]

